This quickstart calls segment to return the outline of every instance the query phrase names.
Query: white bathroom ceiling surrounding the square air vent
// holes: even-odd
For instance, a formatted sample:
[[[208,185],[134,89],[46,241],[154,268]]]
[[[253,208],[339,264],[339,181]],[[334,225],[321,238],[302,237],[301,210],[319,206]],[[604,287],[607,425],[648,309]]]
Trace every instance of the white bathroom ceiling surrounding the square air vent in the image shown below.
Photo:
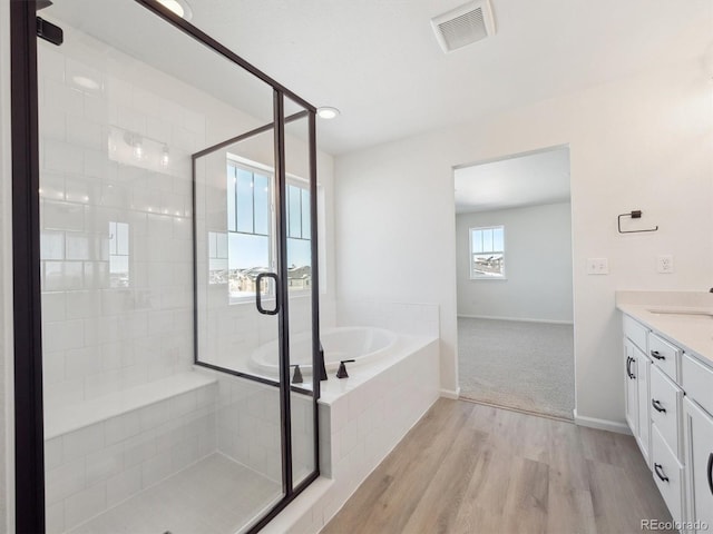
[[[490,0],[496,36],[450,55],[440,50],[430,19],[463,0],[187,1],[195,26],[313,105],[341,109],[318,130],[321,148],[333,154],[524,106],[655,62],[707,55],[704,69],[713,70],[712,0]],[[123,42],[138,57],[155,55],[164,70],[245,103],[226,85],[225,69],[209,73],[189,51],[157,42],[163,31],[139,30],[128,3],[55,0],[52,10],[70,19],[71,10],[75,21],[87,21],[80,24],[85,31]]]

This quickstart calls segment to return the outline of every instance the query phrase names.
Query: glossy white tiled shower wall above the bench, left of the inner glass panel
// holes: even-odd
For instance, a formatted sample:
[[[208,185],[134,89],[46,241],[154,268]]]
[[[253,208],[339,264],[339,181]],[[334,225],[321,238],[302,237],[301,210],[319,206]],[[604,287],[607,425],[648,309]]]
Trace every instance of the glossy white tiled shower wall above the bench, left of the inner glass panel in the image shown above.
[[[189,154],[206,142],[202,113],[144,90],[147,80],[121,79],[135,60],[108,61],[91,40],[69,41],[39,47],[48,405],[82,402],[192,365]],[[78,85],[78,77],[96,88]],[[154,145],[168,148],[168,165],[156,162],[163,152],[150,151]],[[124,154],[136,146],[140,155]],[[116,224],[125,225],[128,238],[118,251]]]

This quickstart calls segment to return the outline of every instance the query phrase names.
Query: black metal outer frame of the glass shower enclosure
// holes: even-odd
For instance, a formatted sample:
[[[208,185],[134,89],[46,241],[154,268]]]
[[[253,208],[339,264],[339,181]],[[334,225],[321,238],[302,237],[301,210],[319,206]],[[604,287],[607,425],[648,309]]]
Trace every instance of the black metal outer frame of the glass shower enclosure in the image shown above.
[[[128,0],[127,0],[128,1]],[[312,339],[313,368],[319,363],[319,273],[316,222],[316,108],[270,76],[255,68],[207,33],[163,7],[156,0],[134,0],[164,21],[183,31],[203,46],[232,61],[273,88],[275,172],[279,212],[285,206],[285,123],[297,118],[284,117],[284,100],[299,103],[309,120],[310,210],[313,221],[312,238]],[[39,132],[38,132],[38,72],[37,72],[37,0],[10,0],[10,59],[11,59],[11,160],[12,160],[12,287],[13,287],[13,367],[14,367],[14,526],[18,534],[46,532],[45,512],[45,436],[42,396],[42,330],[40,285],[40,196],[39,196]],[[302,118],[303,113],[299,113]],[[254,132],[253,132],[254,134]],[[195,161],[195,155],[194,155]],[[282,189],[282,191],[280,191]],[[195,202],[195,190],[194,190]],[[194,210],[195,214],[195,210]],[[284,217],[279,217],[284,231]],[[195,231],[195,228],[194,228]],[[282,239],[284,240],[284,239]],[[194,235],[195,243],[195,235]],[[286,243],[280,253],[286,257]],[[282,264],[282,265],[281,265]],[[287,279],[286,261],[279,261],[282,280]],[[280,284],[284,313],[280,315],[281,366],[281,438],[283,459],[283,498],[262,517],[251,532],[264,527],[302,491],[320,476],[318,399],[320,380],[313,373],[314,465],[315,469],[293,487],[290,427],[290,354],[287,285]],[[195,308],[195,303],[194,303]],[[260,380],[251,375],[240,375]],[[307,393],[302,389],[294,389]]]

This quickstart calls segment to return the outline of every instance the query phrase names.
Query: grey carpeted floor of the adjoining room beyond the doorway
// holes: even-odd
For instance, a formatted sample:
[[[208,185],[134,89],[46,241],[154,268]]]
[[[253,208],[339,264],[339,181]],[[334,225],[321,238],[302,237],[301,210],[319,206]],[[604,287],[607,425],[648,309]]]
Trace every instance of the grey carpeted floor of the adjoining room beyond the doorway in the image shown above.
[[[459,317],[458,353],[461,397],[573,417],[572,325]]]

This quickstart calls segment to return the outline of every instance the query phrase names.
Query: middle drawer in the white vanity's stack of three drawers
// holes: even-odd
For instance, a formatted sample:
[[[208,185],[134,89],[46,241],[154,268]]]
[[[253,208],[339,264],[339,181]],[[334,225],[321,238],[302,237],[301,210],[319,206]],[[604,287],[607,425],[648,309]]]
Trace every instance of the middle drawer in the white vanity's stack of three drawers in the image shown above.
[[[683,398],[682,389],[676,386],[655,365],[651,366],[651,421],[666,441],[676,458],[681,458],[680,413]]]

